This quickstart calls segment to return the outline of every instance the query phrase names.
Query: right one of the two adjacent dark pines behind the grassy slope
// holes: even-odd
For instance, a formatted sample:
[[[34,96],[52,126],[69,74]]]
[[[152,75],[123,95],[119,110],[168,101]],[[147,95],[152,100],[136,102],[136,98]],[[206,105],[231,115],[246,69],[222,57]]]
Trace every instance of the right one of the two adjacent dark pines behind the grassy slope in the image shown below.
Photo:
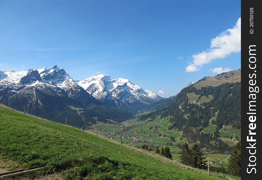
[[[197,143],[193,144],[190,154],[192,157],[192,164],[191,164],[192,167],[199,168],[199,169],[205,167],[205,161],[204,161],[205,158],[203,157],[203,152],[201,151]]]

